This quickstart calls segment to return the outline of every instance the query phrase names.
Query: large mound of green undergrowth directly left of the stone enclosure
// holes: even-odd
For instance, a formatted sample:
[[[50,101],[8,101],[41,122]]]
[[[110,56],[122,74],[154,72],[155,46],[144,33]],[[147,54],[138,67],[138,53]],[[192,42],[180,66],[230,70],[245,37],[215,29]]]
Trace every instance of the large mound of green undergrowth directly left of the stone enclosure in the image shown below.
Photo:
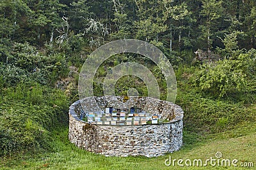
[[[5,89],[0,104],[0,156],[49,148],[49,131],[67,124],[67,97],[37,83]]]

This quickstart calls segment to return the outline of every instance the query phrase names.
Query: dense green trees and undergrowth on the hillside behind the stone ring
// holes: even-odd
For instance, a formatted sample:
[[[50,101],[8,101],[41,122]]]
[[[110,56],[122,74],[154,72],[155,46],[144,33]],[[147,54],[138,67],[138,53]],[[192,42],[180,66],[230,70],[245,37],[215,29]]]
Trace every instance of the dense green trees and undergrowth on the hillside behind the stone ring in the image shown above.
[[[58,152],[60,142],[68,143],[63,129],[68,107],[79,99],[79,71],[93,50],[117,39],[147,41],[172,63],[185,147],[202,136],[230,132],[234,138],[252,132],[248,125],[255,127],[254,0],[1,0],[0,21],[0,167],[15,168],[8,161],[20,153]],[[147,66],[161,99],[166,97],[161,69],[131,53],[99,67],[95,96],[102,95],[109,69],[127,61]],[[120,78],[116,95],[131,87],[147,96],[135,76]],[[243,134],[235,133],[237,128]],[[56,131],[66,141],[56,141]]]

